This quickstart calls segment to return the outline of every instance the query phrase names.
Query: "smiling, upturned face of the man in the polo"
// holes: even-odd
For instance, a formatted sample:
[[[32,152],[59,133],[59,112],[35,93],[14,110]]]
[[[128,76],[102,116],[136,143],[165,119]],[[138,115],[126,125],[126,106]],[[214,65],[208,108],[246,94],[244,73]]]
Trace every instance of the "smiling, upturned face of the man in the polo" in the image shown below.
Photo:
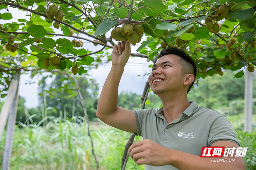
[[[153,65],[148,82],[155,94],[180,91],[182,89],[186,74],[182,72],[180,59],[177,55],[164,55]]]

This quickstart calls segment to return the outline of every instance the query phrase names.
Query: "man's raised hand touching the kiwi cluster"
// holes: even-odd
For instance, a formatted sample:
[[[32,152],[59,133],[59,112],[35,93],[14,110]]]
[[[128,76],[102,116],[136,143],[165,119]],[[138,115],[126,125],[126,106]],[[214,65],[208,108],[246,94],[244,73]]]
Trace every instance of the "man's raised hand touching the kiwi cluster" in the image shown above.
[[[117,45],[114,45],[111,54],[112,65],[124,67],[130,57],[130,53],[131,44],[128,41],[123,41],[122,43],[118,42]]]

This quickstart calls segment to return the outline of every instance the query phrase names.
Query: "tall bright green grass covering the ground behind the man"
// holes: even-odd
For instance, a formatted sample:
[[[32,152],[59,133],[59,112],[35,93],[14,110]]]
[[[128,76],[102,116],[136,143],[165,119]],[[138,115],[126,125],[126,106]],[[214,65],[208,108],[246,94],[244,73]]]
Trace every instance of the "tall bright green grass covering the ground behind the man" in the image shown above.
[[[247,169],[256,169],[256,115],[253,115],[252,134],[242,131],[242,115],[228,116],[228,119],[236,129],[242,147],[248,147],[244,158]],[[90,124],[100,170],[119,170],[130,133],[109,127],[100,121]],[[36,124],[16,126],[10,170],[95,170],[87,126],[82,117],[70,120],[52,118],[44,127]],[[0,140],[1,163],[5,136],[6,132]],[[136,141],[141,139],[138,136],[135,138]],[[144,166],[138,166],[129,158],[126,169],[143,170]]]

